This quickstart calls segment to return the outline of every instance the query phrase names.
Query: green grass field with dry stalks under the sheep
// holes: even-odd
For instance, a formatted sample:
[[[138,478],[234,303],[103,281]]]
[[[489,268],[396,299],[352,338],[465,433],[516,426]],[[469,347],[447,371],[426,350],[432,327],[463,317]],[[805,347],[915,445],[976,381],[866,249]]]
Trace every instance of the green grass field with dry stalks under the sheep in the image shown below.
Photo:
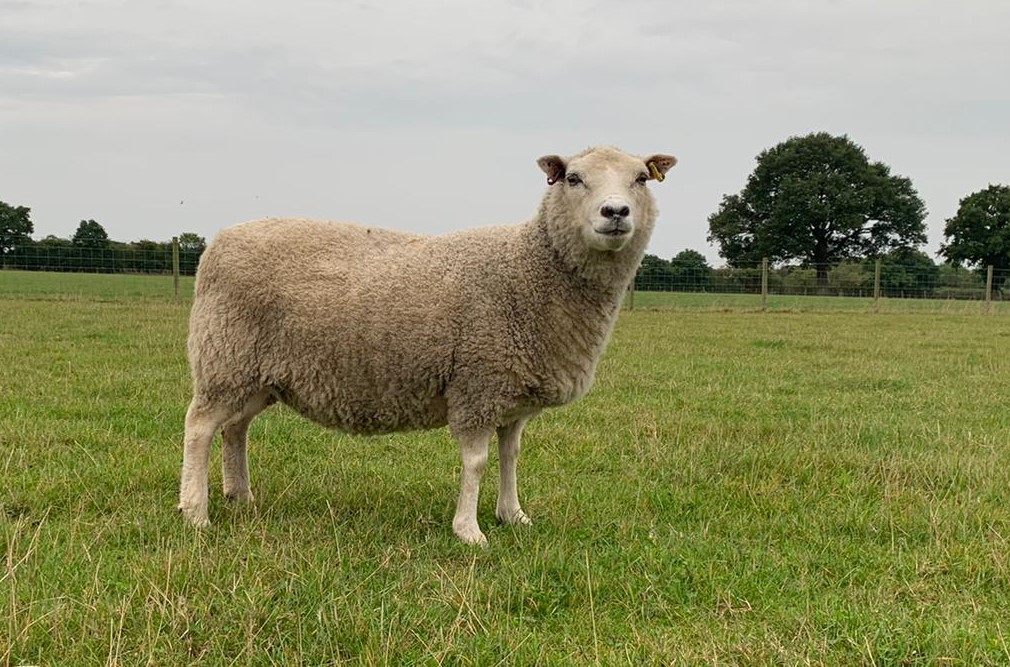
[[[63,289],[0,280],[0,665],[1010,664],[1010,318],[623,312],[482,550],[446,433],[285,408],[187,528],[186,299]]]

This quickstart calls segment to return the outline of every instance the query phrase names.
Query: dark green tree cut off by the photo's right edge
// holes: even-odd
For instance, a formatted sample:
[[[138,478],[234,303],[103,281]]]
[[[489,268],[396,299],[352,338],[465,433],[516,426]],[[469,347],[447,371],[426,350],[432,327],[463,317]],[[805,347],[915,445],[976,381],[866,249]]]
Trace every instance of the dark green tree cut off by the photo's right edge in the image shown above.
[[[940,255],[950,264],[991,266],[1000,270],[997,277],[1005,275],[1010,269],[1010,186],[990,185],[962,199],[943,235]]]

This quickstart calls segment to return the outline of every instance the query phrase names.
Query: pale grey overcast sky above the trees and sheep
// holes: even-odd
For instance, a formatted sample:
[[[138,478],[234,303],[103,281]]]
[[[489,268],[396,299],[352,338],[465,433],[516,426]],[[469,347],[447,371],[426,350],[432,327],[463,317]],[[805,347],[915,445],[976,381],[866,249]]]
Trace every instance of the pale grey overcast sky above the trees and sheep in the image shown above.
[[[1010,182],[1006,0],[0,0],[0,200],[36,239],[266,215],[440,232],[528,218],[543,154],[671,153],[649,252],[790,135],[912,179],[935,253]]]

